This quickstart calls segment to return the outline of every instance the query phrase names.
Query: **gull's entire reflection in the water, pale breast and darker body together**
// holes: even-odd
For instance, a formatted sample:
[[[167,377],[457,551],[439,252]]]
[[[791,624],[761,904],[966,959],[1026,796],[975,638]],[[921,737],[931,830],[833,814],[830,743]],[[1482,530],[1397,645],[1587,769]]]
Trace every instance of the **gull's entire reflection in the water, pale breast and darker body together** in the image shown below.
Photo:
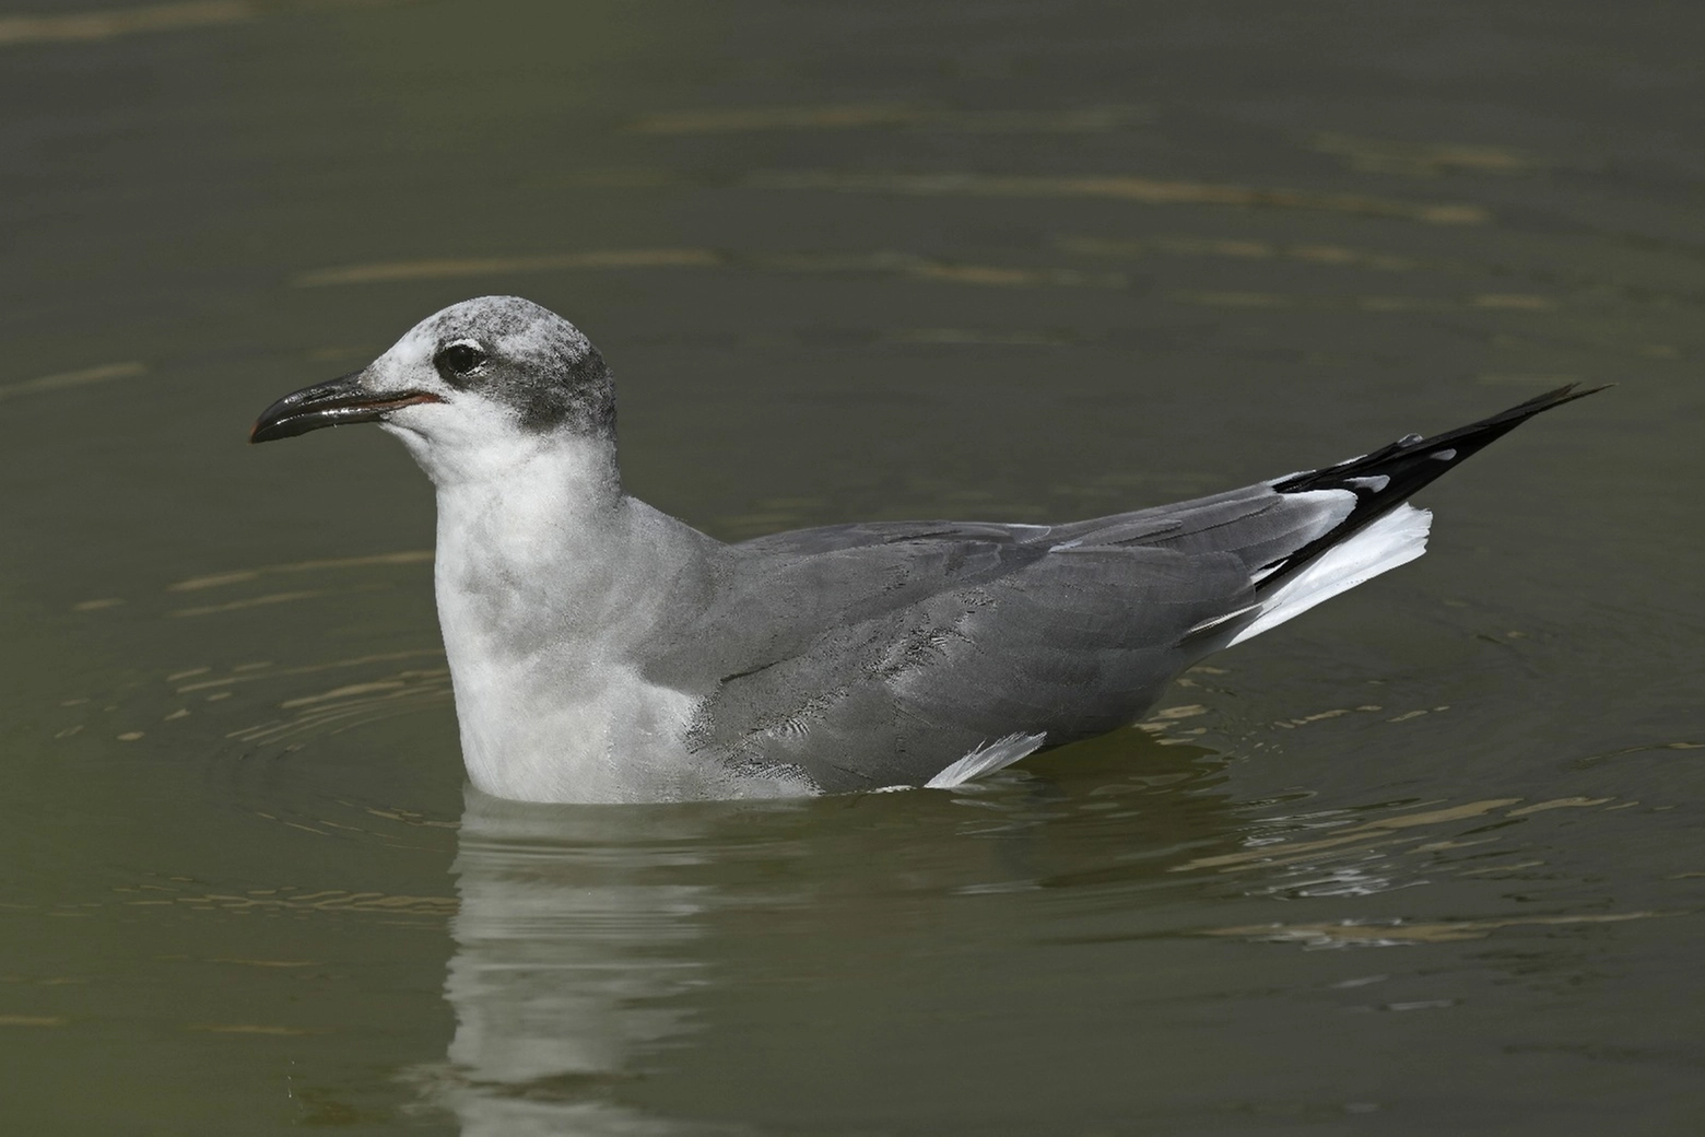
[[[842,1043],[904,1036],[936,1001],[982,1006],[989,977],[941,949],[943,919],[979,941],[1028,936],[1030,905],[1003,897],[1069,888],[1086,857],[1112,874],[1096,893],[1175,892],[1192,885],[1165,871],[1178,846],[1226,847],[1222,796],[1185,793],[1217,782],[1219,765],[1195,747],[1125,742],[1076,757],[1088,782],[1008,774],[965,796],[587,806],[469,788],[445,982],[455,1033],[447,1062],[413,1081],[464,1137],[733,1132],[658,1105],[684,1084],[731,1099],[776,1082],[803,1099],[864,1094],[832,1059]],[[1130,745],[1151,759],[1142,776]],[[1115,834],[1120,859],[1136,857],[1117,868]],[[967,897],[987,903],[963,909]],[[928,967],[888,973],[893,958]],[[786,997],[762,994],[777,984]],[[731,1038],[766,1040],[764,1074]]]

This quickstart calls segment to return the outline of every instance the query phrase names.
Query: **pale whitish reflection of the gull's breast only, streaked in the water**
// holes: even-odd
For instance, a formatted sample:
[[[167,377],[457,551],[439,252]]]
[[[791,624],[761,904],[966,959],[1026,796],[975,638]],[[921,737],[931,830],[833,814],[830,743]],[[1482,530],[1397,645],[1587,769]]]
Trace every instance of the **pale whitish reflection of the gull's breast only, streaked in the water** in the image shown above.
[[[416,1072],[464,1137],[713,1132],[617,1101],[696,1030],[682,996],[706,982],[694,943],[714,886],[689,878],[711,828],[691,806],[518,805],[469,788],[445,980],[455,1035],[445,1065]]]

